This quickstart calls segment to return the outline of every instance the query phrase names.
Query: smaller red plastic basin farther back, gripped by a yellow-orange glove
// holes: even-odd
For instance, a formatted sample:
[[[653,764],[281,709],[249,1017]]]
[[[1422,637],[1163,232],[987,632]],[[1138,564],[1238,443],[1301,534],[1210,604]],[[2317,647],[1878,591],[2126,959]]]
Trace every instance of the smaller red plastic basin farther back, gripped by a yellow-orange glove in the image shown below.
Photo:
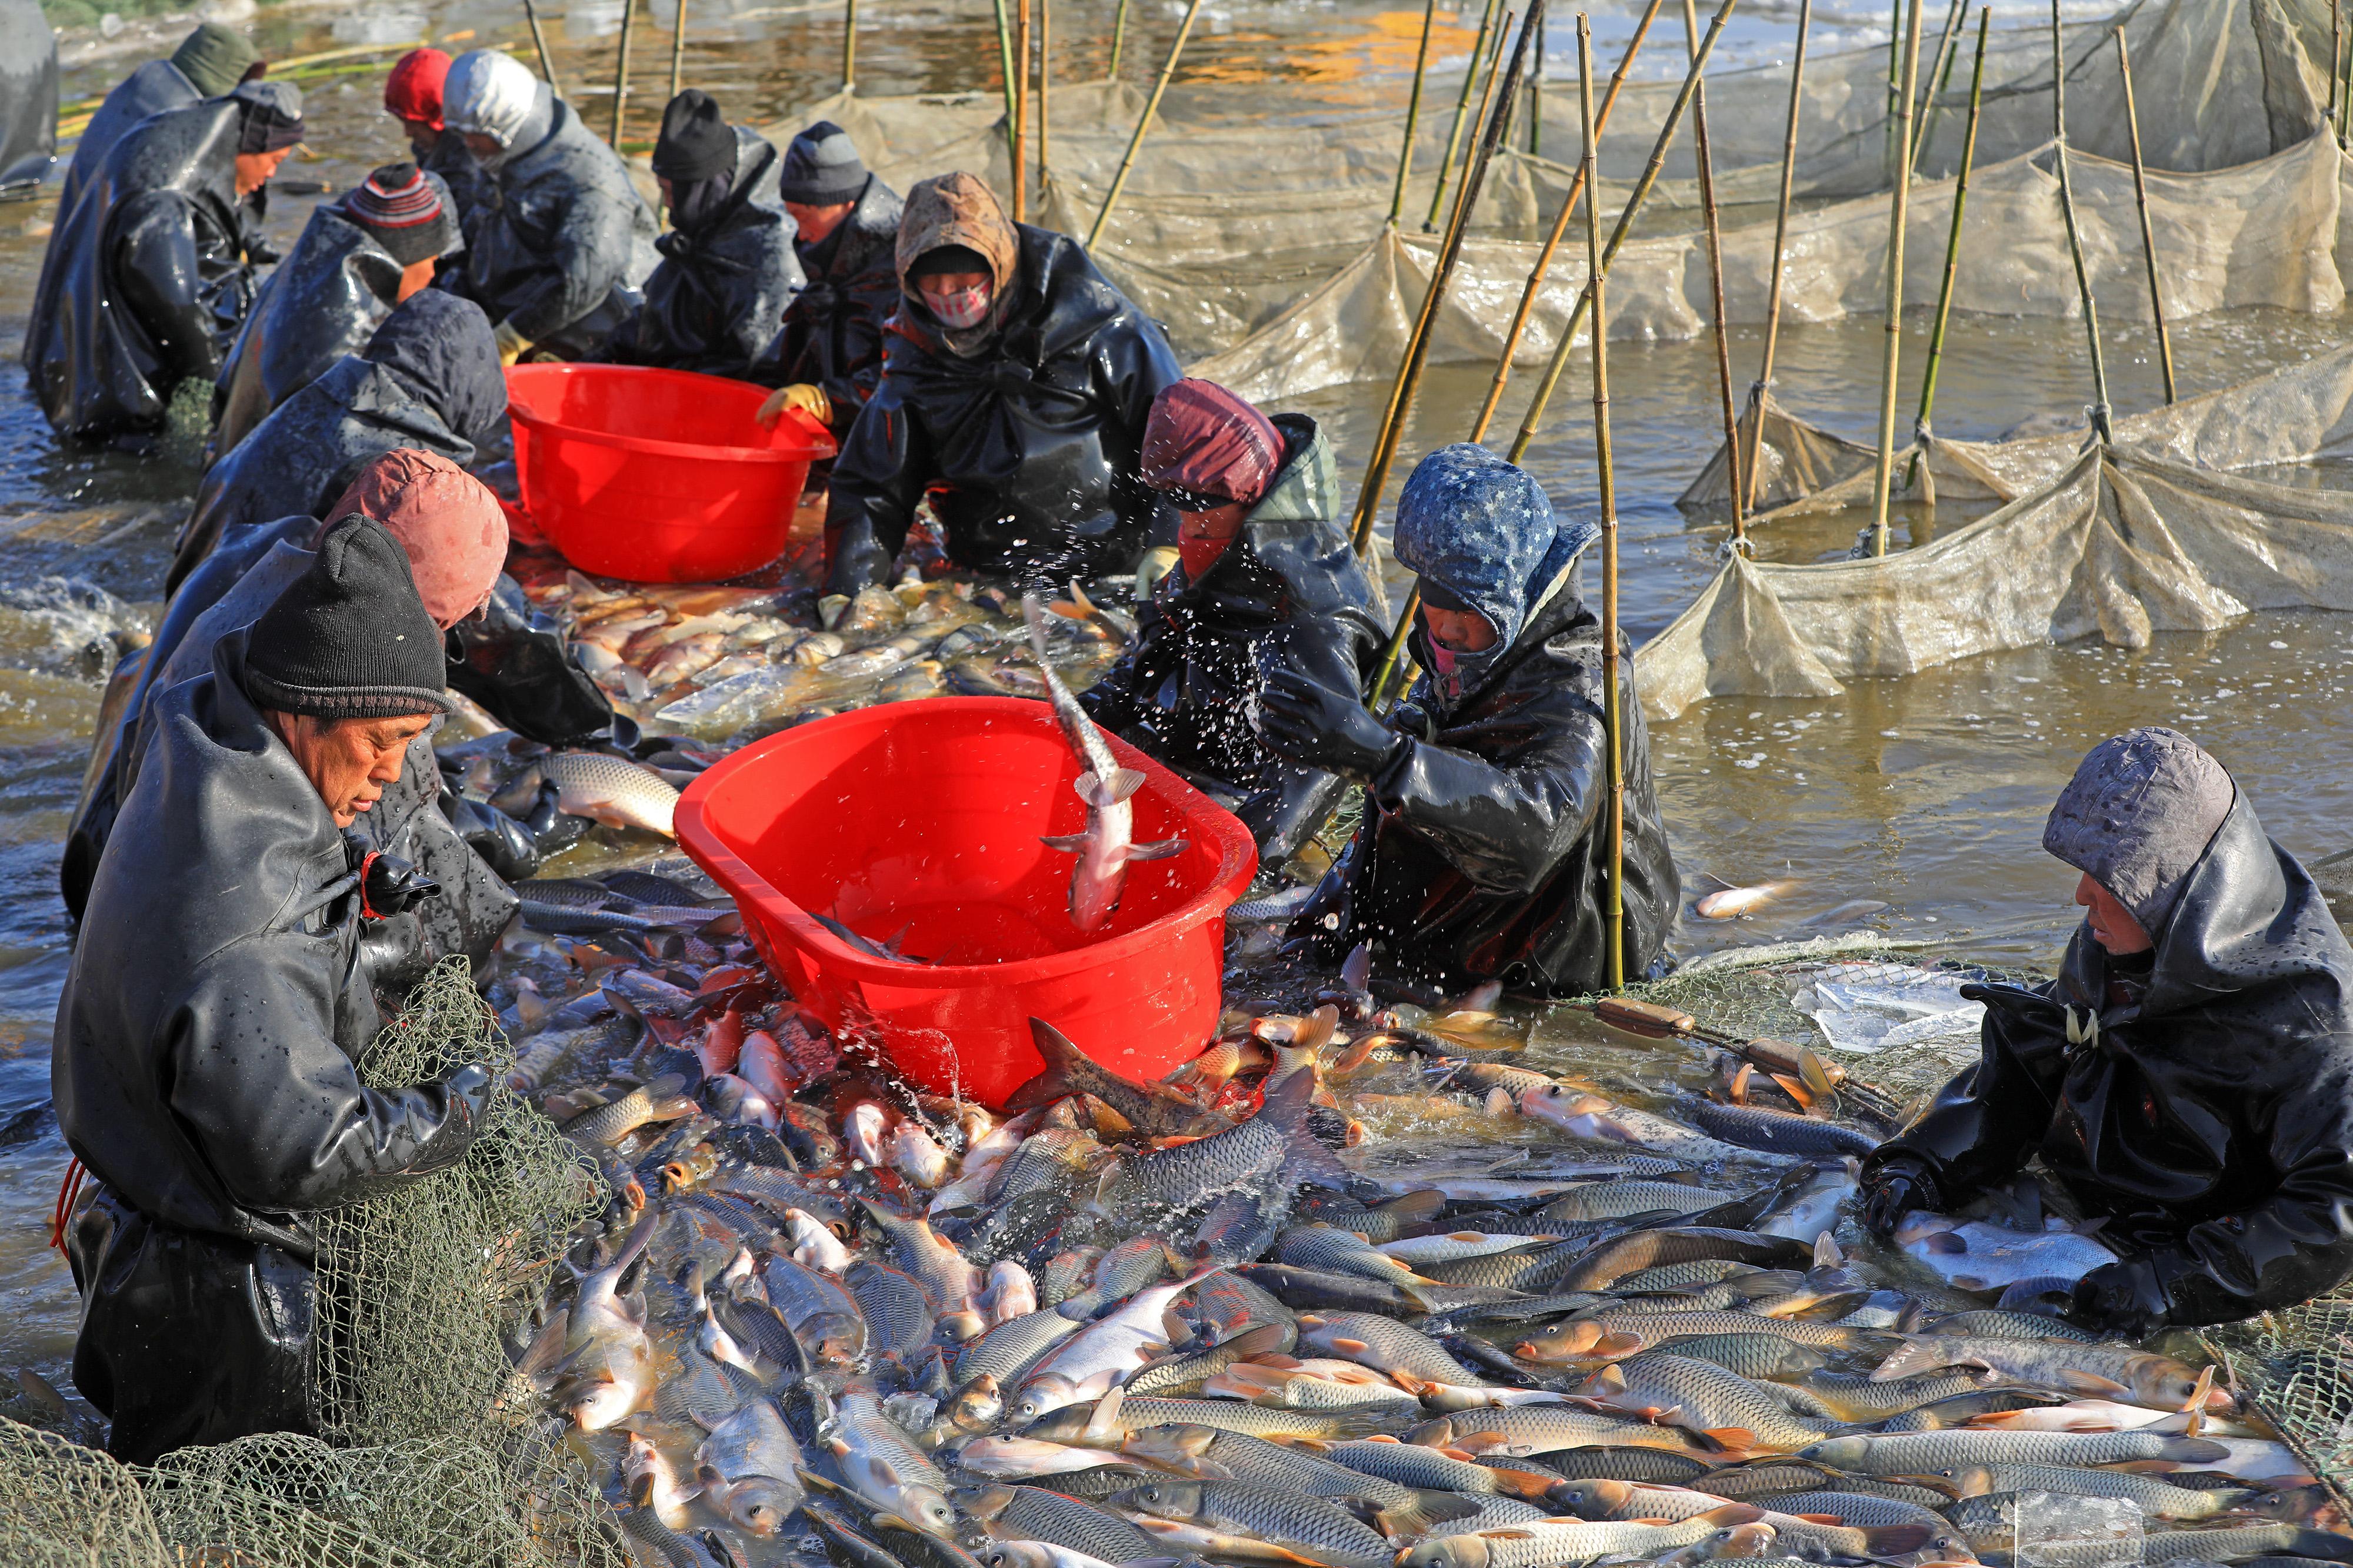
[[[708,583],[784,555],[809,463],[833,435],[765,388],[635,364],[515,364],[522,505],[565,559],[631,583]]]

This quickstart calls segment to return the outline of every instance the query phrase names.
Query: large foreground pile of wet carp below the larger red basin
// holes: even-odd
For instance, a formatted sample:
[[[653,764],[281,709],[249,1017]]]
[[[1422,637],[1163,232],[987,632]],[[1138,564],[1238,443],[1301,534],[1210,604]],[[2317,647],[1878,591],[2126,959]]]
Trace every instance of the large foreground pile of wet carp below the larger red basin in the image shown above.
[[[1351,961],[1158,1084],[1038,1025],[993,1112],[819,1027],[682,860],[534,889],[513,1086],[612,1201],[508,1399],[647,1563],[2353,1561],[2214,1368],[1946,1281],[2078,1237],[1861,1237],[1878,1128],[1812,1056],[1645,1046],[1685,1086],[1633,1105]]]

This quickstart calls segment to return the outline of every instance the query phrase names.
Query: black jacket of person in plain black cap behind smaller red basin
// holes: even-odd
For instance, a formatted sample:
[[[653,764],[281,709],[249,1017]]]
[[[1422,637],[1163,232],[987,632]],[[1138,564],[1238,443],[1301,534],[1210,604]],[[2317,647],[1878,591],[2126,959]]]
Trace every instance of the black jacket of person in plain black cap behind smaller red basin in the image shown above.
[[[793,214],[776,195],[776,148],[734,127],[736,174],[727,200],[692,230],[654,240],[661,266],[638,308],[600,357],[744,378],[774,341],[784,308],[800,292]]]

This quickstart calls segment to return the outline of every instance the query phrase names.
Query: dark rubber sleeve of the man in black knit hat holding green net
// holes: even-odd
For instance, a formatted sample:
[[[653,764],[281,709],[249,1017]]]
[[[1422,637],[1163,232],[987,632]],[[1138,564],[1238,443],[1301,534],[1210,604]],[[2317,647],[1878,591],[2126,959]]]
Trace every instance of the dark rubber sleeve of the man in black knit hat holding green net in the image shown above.
[[[374,1091],[334,1039],[334,938],[264,931],[205,959],[165,1025],[172,1114],[245,1208],[348,1204],[440,1171],[487,1079]]]

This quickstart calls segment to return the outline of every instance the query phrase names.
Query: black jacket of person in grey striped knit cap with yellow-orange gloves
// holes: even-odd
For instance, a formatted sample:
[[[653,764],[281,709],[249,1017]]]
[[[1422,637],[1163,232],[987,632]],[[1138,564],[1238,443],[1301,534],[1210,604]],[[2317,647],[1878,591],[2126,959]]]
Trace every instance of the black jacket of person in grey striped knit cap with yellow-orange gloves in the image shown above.
[[[866,176],[840,228],[816,244],[795,242],[807,284],[784,308],[784,329],[751,369],[765,386],[809,383],[833,404],[835,440],[882,378],[882,324],[899,310],[899,214],[906,202]]]

